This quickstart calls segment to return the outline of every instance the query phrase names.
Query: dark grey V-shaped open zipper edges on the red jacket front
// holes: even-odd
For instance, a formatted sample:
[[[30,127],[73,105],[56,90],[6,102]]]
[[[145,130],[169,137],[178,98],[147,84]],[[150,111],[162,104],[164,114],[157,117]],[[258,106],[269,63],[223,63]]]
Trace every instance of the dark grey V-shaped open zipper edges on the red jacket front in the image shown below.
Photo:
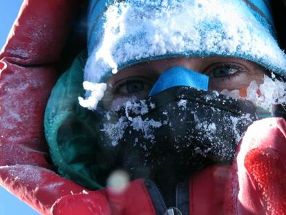
[[[155,212],[158,215],[189,215],[188,183],[178,183],[175,189],[175,207],[166,207],[162,193],[152,180],[145,179]]]

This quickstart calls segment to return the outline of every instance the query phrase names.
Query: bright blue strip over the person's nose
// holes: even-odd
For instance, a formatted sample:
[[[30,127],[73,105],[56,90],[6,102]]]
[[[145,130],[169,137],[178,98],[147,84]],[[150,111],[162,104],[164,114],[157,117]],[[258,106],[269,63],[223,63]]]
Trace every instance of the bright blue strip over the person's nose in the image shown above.
[[[149,96],[160,93],[173,86],[191,86],[203,91],[209,89],[209,76],[189,70],[182,66],[175,66],[165,71],[155,82]]]

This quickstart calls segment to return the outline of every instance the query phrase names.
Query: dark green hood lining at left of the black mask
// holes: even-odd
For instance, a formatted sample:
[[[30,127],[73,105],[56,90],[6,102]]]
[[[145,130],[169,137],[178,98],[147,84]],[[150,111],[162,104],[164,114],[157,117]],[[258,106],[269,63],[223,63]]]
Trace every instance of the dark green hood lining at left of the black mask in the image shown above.
[[[61,176],[89,189],[102,189],[110,164],[101,153],[97,117],[77,99],[84,95],[85,64],[86,51],[59,77],[46,106],[45,135]]]

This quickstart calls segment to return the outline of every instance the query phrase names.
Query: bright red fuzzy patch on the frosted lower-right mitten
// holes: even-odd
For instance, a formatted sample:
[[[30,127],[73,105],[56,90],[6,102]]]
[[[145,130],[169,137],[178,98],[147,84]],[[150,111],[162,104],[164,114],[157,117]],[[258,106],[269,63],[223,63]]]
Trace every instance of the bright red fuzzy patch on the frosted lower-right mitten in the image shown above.
[[[245,168],[252,184],[258,189],[256,193],[263,203],[265,214],[286,212],[286,166],[280,154],[271,148],[252,149],[245,156]]]

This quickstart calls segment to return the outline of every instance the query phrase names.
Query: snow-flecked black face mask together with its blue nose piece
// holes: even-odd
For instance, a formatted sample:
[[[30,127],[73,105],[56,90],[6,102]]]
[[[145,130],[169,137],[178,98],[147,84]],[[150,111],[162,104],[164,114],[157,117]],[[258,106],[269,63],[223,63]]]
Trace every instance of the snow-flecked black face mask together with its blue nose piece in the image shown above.
[[[256,109],[208,92],[208,84],[207,75],[173,67],[148,99],[103,111],[100,139],[113,168],[132,178],[168,172],[182,180],[207,165],[231,164],[242,133],[257,119]]]

